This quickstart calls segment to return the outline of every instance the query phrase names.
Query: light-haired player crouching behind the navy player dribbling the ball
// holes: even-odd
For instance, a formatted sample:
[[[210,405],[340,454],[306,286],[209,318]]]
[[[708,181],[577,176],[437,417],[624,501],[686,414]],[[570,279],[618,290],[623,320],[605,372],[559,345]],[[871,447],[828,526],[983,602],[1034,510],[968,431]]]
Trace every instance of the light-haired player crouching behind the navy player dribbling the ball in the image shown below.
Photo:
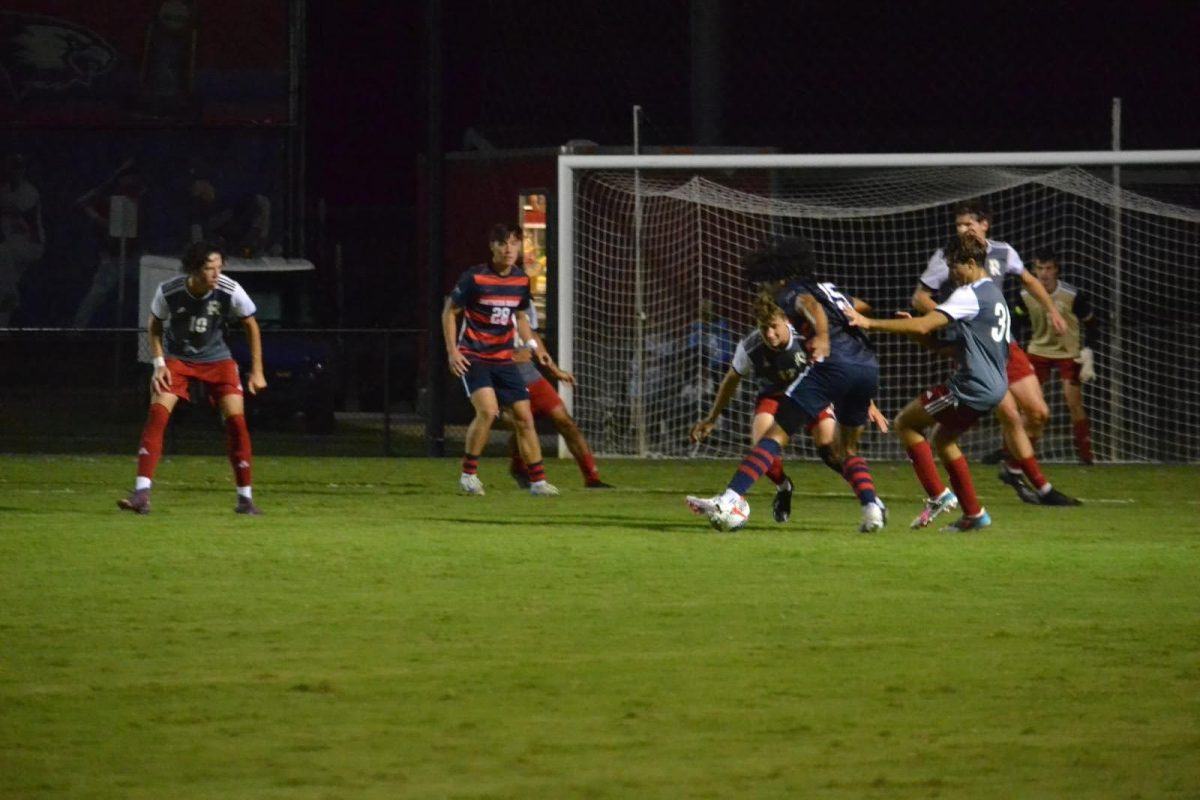
[[[750,422],[750,444],[756,445],[775,423],[775,414],[784,401],[784,390],[808,365],[805,341],[787,321],[787,314],[775,305],[769,294],[755,299],[754,318],[756,327],[740,342],[733,351],[730,368],[721,379],[721,385],[713,398],[713,407],[703,417],[691,426],[692,441],[703,441],[716,427],[721,413],[733,399],[743,378],[754,377],[758,383],[758,396],[755,398],[754,419]],[[880,429],[887,433],[888,423],[875,403],[871,403],[869,416]],[[833,407],[826,407],[821,414],[810,420],[805,429],[812,437],[821,461],[838,475],[842,474],[842,461],[835,455],[834,439],[838,434]],[[772,501],[772,516],[775,522],[784,523],[792,515],[792,480],[784,471],[782,457],[772,461],[766,471],[775,485],[775,498]]]

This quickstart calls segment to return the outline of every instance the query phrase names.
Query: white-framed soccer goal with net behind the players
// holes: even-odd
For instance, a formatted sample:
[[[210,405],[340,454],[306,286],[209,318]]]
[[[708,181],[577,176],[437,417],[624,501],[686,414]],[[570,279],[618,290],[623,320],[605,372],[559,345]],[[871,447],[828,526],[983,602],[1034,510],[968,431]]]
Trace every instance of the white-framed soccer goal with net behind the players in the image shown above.
[[[575,419],[604,455],[739,456],[751,379],[703,445],[688,432],[752,327],[742,255],[767,235],[802,234],[823,279],[890,315],[910,308],[930,254],[954,230],[954,209],[977,200],[991,211],[991,239],[1014,246],[1030,270],[1033,252],[1052,247],[1061,279],[1097,309],[1098,378],[1084,386],[1097,459],[1200,461],[1200,203],[1114,181],[1117,158],[1150,158],[1146,151],[1038,163],[1051,155],[998,166],[941,166],[930,156],[899,167],[888,157],[560,157],[558,347],[577,378],[566,393]],[[1072,164],[1072,155],[1094,158]],[[1200,151],[1171,151],[1166,161],[1187,186]],[[1004,289],[1015,301],[1019,281],[1009,277]],[[1028,331],[1014,335],[1024,345]],[[904,337],[874,341],[876,402],[889,417],[952,371]],[[1039,457],[1074,461],[1057,375],[1044,391],[1050,423]],[[962,444],[979,458],[998,447],[998,426],[989,419]],[[791,450],[815,457],[804,437]],[[878,433],[864,437],[864,450],[904,458],[895,438]]]

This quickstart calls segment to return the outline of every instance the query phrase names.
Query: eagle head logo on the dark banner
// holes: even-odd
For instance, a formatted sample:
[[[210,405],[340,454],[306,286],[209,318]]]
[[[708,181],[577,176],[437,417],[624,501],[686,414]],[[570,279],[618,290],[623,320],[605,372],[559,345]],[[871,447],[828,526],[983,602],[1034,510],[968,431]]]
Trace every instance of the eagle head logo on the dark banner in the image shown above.
[[[115,65],[116,50],[95,31],[54,17],[0,12],[0,91],[7,83],[12,100],[90,86]]]

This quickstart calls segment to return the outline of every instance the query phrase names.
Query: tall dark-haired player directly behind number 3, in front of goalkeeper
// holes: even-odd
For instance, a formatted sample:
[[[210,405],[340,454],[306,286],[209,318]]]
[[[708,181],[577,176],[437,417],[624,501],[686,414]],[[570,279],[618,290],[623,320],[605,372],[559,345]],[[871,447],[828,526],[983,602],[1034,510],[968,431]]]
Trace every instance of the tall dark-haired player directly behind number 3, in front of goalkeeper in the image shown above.
[[[1062,332],[1067,329],[1050,295],[1025,269],[1016,249],[1007,242],[988,239],[991,216],[982,205],[968,203],[959,206],[954,216],[954,227],[959,235],[968,234],[986,245],[988,258],[983,266],[997,287],[1003,289],[1004,276],[1016,275],[1021,284],[1045,308],[1054,330]],[[952,290],[949,266],[942,251],[937,251],[929,259],[929,265],[913,291],[912,306],[923,314],[928,313],[937,306],[936,296],[944,299]],[[1042,431],[1049,416],[1050,409],[1030,360],[1016,342],[1009,342],[1008,393],[996,409],[996,417],[1003,431],[1007,459],[1000,470],[1000,480],[1012,486],[1025,503],[1052,506],[1079,505],[1079,500],[1054,488],[1038,464],[1033,438]],[[1021,479],[1022,473],[1033,485],[1032,489]]]

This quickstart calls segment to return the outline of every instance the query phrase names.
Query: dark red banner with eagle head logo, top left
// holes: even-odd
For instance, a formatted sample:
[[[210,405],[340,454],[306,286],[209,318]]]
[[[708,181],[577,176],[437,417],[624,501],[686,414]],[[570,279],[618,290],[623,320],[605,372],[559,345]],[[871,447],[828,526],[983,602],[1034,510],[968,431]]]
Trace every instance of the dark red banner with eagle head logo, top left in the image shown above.
[[[284,125],[288,0],[5,0],[0,126]]]

